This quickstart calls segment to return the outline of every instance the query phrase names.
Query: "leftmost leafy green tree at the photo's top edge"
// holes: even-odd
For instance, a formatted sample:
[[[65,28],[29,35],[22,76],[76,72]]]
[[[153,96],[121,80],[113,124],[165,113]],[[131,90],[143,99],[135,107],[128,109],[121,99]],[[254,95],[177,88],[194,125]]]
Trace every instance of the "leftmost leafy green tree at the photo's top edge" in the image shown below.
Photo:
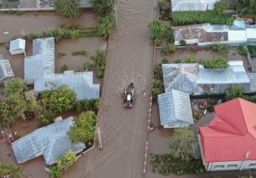
[[[80,15],[80,0],[55,0],[55,10],[59,15],[67,18],[76,18]]]

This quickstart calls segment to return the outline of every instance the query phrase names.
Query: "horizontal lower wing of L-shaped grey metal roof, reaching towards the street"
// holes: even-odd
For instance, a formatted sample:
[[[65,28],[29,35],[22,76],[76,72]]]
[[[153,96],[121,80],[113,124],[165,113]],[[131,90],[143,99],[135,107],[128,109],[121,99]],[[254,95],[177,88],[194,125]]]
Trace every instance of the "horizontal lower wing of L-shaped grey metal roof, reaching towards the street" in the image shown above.
[[[93,84],[93,72],[65,71],[64,74],[51,74],[37,78],[34,83],[35,91],[52,90],[54,87],[67,85],[76,92],[77,100],[99,98],[100,85]]]

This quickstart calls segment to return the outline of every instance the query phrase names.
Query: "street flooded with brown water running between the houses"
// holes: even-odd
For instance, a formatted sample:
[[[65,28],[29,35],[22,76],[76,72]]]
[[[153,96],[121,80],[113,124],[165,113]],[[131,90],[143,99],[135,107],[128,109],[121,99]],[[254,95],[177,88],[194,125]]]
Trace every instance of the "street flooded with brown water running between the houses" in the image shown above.
[[[157,15],[156,6],[156,0],[119,0],[99,111],[103,150],[94,149],[80,157],[63,177],[143,177],[154,56],[146,27]],[[123,92],[129,83],[134,83],[137,99],[134,108],[124,109]]]

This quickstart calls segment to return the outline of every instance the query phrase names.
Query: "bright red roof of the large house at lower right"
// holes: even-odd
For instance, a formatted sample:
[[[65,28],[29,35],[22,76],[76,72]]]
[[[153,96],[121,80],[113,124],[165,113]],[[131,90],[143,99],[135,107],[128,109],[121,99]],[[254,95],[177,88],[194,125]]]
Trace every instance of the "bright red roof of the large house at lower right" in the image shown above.
[[[200,135],[206,162],[256,159],[256,104],[237,98],[215,106]]]

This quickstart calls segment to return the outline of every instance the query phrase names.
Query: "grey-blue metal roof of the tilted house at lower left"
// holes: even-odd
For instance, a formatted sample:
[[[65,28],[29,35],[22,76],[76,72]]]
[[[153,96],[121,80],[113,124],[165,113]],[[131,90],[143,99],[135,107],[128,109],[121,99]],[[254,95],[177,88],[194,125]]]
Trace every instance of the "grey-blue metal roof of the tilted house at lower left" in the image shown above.
[[[24,163],[43,155],[46,164],[53,164],[67,150],[79,152],[85,143],[72,143],[68,132],[74,124],[73,117],[36,129],[32,133],[11,143],[18,163]]]

